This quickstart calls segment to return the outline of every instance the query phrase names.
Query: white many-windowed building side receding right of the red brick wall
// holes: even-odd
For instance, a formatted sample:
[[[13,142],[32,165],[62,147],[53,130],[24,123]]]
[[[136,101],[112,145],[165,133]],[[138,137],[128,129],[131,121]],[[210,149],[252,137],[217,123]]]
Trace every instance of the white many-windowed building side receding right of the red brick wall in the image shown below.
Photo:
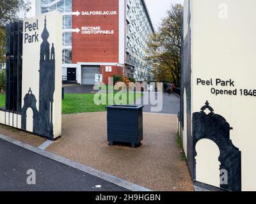
[[[126,1],[126,63],[134,69],[138,81],[153,80],[151,68],[145,66],[144,57],[148,36],[154,27],[143,0]]]

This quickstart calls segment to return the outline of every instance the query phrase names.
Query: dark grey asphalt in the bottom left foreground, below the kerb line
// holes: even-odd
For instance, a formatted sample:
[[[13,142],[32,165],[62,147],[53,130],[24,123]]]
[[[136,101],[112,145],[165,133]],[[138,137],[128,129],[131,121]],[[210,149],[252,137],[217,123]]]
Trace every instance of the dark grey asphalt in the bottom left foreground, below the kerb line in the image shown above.
[[[36,172],[36,185],[27,184],[30,169]],[[0,191],[127,190],[0,139]]]

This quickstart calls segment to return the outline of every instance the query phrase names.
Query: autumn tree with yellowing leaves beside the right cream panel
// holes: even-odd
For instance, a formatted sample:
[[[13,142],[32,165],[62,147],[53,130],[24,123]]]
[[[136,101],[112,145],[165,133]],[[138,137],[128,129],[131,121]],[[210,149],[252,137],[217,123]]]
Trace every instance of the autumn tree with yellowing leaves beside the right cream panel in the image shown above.
[[[173,4],[159,31],[150,36],[145,57],[158,82],[174,82],[177,87],[180,86],[181,15],[182,5]]]

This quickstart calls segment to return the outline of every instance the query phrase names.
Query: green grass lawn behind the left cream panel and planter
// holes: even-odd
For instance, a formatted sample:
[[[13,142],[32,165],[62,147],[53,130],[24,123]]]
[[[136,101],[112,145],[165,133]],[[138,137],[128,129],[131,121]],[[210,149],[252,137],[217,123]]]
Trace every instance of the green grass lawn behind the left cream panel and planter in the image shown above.
[[[113,98],[116,96],[116,92],[112,93],[110,96]],[[127,94],[127,101],[125,104],[129,104],[129,98],[131,102],[135,101],[143,94],[121,94],[124,97]],[[71,113],[84,113],[84,112],[102,112],[105,111],[105,107],[109,105],[108,97],[109,94],[102,94],[103,97],[107,98],[106,105],[95,105],[93,98],[95,94],[65,94],[65,99],[62,100],[62,114],[71,114]],[[0,95],[0,107],[4,108],[5,106],[5,95]]]

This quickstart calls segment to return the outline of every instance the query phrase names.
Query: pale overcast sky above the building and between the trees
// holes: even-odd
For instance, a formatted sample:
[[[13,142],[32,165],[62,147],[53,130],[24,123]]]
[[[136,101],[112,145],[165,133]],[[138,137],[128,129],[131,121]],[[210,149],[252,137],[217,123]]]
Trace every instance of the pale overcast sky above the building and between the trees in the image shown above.
[[[32,3],[31,5],[32,9],[31,11],[29,11],[27,16],[33,17],[35,15],[35,1],[40,1],[40,0],[26,0],[26,1],[31,1]],[[145,1],[148,7],[151,20],[156,29],[157,29],[157,26],[159,25],[159,22],[161,22],[161,19],[166,16],[166,11],[170,8],[172,4],[175,4],[175,3],[183,4],[184,2],[184,0],[145,0]]]

